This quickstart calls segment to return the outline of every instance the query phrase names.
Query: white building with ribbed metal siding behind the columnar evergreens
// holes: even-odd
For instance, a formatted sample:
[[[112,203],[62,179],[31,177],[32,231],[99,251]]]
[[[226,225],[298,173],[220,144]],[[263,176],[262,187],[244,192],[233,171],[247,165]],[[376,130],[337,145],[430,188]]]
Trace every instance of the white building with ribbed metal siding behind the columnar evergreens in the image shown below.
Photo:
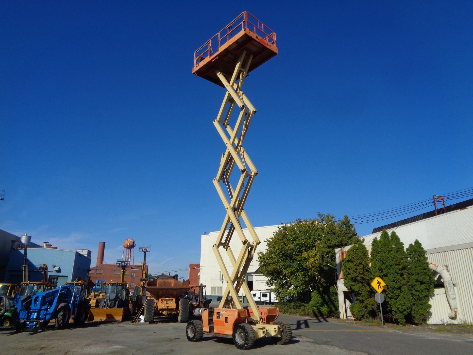
[[[419,240],[426,249],[431,269],[441,272],[441,275],[434,274],[437,284],[430,300],[432,308],[427,323],[473,323],[473,199],[448,206],[445,213],[436,215],[431,211],[376,228],[374,233],[361,237],[368,252],[371,242],[379,239],[383,229],[389,233],[395,231],[405,248]],[[353,299],[343,284],[341,270],[348,249],[350,246],[335,250],[342,319],[352,318],[350,304]]]

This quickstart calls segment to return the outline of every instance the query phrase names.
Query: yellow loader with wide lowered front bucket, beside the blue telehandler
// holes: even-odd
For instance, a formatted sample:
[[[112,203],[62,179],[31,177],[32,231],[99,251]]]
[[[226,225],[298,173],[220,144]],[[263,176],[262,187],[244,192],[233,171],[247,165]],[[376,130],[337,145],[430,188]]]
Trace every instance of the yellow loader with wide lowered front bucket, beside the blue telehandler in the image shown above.
[[[95,300],[89,300],[88,322],[121,322],[128,315],[130,290],[125,283],[125,274],[130,260],[117,260],[116,265],[122,268],[120,282],[102,283],[100,295]]]

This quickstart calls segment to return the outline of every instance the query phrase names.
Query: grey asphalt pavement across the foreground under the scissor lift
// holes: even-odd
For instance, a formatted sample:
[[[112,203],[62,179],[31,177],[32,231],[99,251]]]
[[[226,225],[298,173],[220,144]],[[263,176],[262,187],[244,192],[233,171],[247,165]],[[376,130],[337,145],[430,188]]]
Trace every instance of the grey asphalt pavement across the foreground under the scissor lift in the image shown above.
[[[153,354],[242,354],[231,339],[204,336],[199,342],[185,337],[185,323],[157,318],[148,323],[89,323],[84,327],[57,330],[49,325],[43,332],[15,333],[0,330],[1,354],[9,355],[153,355]],[[339,319],[311,319],[280,315],[293,329],[288,345],[259,339],[245,354],[473,354],[472,334],[451,335],[383,329],[350,324]]]

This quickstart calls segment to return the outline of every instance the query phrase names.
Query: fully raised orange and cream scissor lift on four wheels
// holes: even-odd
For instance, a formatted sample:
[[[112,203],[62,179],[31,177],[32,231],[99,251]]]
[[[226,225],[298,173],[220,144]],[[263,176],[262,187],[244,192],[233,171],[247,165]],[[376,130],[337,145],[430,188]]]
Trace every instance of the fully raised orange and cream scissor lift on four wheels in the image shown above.
[[[215,337],[232,338],[238,349],[248,349],[260,337],[272,337],[278,344],[287,344],[292,338],[289,324],[276,321],[279,309],[258,307],[245,282],[260,240],[243,209],[258,171],[243,148],[256,109],[242,91],[242,85],[250,71],[277,53],[276,34],[248,12],[240,14],[194,53],[193,73],[226,89],[217,119],[213,121],[226,146],[217,177],[213,179],[226,216],[212,249],[227,285],[219,308],[198,310],[202,320],[192,320],[187,324],[186,337],[189,341],[200,340],[204,333],[209,333]],[[232,128],[230,120],[234,111],[238,114]],[[241,175],[233,187],[230,178],[235,167]],[[243,224],[252,242],[246,239]],[[230,248],[235,232],[242,243],[237,257]],[[233,267],[231,273],[224,264],[220,248],[228,254]],[[248,299],[249,307],[241,304],[238,297],[240,290]]]

